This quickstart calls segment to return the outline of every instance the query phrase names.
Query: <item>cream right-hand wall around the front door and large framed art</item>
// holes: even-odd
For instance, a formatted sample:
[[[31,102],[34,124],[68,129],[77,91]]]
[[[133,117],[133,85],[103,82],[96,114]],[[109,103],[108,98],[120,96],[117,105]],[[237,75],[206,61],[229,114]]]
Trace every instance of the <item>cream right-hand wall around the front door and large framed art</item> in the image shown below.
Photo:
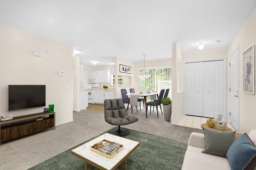
[[[256,129],[256,96],[243,92],[243,55],[244,50],[256,44],[256,9],[244,23],[234,40],[228,46],[228,60],[233,50],[239,46],[239,131],[249,133]],[[254,67],[255,69],[255,67]]]

